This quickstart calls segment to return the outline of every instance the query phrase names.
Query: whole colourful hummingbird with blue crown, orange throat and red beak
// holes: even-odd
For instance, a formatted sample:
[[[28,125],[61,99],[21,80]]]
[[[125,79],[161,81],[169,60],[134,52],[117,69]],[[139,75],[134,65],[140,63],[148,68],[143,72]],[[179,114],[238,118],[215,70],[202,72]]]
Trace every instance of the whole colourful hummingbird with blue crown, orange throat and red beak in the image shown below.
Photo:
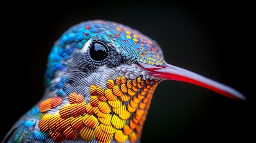
[[[234,88],[168,64],[155,40],[112,21],[71,26],[46,66],[42,99],[1,143],[139,143],[154,91],[167,80],[247,100]]]

